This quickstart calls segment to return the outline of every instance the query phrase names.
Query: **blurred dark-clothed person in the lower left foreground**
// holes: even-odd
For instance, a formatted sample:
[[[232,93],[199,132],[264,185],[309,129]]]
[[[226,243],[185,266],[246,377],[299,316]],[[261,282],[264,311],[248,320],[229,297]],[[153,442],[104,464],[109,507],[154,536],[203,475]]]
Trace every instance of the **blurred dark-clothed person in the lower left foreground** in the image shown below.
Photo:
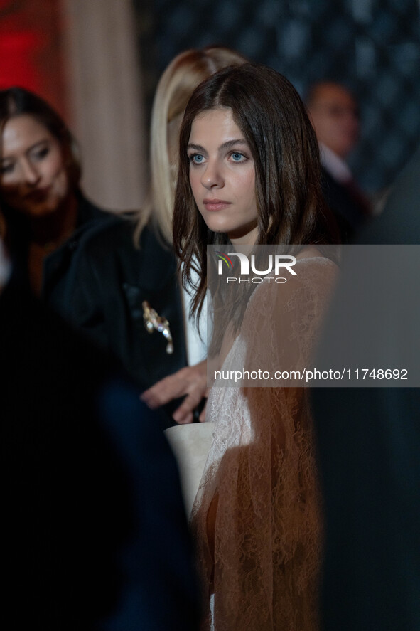
[[[0,348],[3,627],[196,630],[178,472],[155,413],[12,284]]]

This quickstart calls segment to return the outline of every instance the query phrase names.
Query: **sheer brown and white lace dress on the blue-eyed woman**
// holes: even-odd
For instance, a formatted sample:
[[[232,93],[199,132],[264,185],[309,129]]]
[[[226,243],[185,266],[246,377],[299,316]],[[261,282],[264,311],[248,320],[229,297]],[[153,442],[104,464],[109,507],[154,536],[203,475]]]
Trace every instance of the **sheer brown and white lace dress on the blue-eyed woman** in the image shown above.
[[[224,369],[308,360],[336,267],[297,265],[293,282],[254,292]],[[214,433],[191,516],[205,596],[214,592],[204,628],[316,630],[321,519],[306,388],[215,386],[207,414]]]

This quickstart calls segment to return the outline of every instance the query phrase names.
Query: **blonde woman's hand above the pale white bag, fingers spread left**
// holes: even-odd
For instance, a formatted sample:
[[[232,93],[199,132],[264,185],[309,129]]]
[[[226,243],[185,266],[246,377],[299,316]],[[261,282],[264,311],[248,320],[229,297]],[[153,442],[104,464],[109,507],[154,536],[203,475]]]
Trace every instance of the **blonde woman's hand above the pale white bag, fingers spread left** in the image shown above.
[[[185,398],[172,418],[179,424],[193,423],[195,408],[208,396],[206,359],[161,379],[141,395],[141,400],[153,410],[181,396]],[[205,406],[200,413],[200,422],[203,423],[204,418]]]

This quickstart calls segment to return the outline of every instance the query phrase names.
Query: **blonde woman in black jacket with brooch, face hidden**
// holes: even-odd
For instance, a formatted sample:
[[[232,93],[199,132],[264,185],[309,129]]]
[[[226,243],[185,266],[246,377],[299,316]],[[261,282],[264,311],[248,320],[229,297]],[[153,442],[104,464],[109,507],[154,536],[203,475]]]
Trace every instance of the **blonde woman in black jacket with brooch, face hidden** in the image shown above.
[[[171,423],[190,423],[205,393],[205,364],[195,359],[203,351],[191,351],[195,366],[185,367],[192,327],[171,245],[178,131],[193,90],[217,70],[245,61],[215,46],[185,51],[168,65],[152,110],[146,206],[134,221],[117,219],[82,244],[68,295],[72,322],[117,355],[142,391],[149,388],[143,398],[151,408],[168,405]],[[181,397],[182,403],[173,401]]]

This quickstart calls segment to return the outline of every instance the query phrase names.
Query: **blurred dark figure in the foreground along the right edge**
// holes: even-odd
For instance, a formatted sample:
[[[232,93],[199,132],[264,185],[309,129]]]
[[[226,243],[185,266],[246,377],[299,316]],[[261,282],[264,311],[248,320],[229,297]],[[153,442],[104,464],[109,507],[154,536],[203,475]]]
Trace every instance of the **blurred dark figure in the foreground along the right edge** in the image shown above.
[[[392,265],[381,248],[362,270],[350,258],[325,326],[338,355],[362,327],[372,349],[392,356],[382,368],[419,361],[419,180],[420,149],[382,215],[357,235],[357,243],[410,247]],[[366,308],[373,286],[379,317]],[[340,326],[345,319],[352,327]],[[312,397],[326,526],[322,628],[418,631],[420,388],[314,388]]]

